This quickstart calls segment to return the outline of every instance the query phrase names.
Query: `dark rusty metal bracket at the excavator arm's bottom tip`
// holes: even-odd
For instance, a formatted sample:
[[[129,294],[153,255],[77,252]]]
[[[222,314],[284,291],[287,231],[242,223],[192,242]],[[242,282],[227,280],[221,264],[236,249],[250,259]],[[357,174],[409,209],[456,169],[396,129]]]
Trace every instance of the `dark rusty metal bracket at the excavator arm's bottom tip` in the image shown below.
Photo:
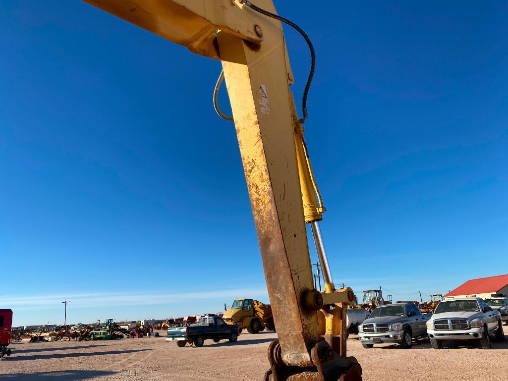
[[[342,357],[322,340],[310,352],[314,367],[287,366],[282,362],[280,344],[268,347],[270,369],[264,381],[362,381],[362,367],[354,357]]]

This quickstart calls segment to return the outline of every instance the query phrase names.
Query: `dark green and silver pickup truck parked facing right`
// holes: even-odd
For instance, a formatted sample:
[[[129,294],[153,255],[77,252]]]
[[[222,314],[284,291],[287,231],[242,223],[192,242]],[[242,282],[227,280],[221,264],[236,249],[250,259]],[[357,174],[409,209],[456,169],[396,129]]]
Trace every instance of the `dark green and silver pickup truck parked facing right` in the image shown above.
[[[238,326],[229,325],[216,315],[205,315],[198,320],[197,324],[188,327],[175,327],[168,329],[166,341],[176,341],[180,347],[186,343],[203,346],[206,339],[219,342],[228,339],[235,342],[238,339]]]

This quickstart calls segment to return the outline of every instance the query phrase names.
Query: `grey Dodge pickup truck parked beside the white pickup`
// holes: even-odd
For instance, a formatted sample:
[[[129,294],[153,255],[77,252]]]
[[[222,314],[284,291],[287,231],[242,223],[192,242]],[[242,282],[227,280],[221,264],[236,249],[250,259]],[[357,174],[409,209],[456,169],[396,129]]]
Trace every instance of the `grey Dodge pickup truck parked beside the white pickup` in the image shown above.
[[[398,343],[410,348],[412,340],[427,336],[427,320],[414,303],[386,304],[375,308],[359,327],[358,336],[364,348],[374,344]]]

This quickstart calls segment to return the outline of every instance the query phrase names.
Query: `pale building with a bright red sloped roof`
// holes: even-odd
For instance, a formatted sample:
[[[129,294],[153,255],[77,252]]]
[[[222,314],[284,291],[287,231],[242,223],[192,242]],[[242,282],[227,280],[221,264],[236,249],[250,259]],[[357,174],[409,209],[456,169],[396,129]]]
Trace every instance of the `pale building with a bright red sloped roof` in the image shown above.
[[[490,298],[492,294],[508,295],[508,274],[468,280],[443,298],[454,299],[467,296]]]

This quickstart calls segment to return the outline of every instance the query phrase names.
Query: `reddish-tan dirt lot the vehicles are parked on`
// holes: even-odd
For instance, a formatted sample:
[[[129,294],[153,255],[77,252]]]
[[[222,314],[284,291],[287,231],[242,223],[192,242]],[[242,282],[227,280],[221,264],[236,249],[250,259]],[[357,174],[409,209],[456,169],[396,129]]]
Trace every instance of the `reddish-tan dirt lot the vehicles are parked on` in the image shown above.
[[[503,328],[508,335],[508,327]],[[178,348],[164,337],[11,344],[13,354],[0,362],[0,380],[261,380],[268,368],[268,344],[276,337],[275,333],[242,333],[236,343],[207,340],[202,348]],[[365,381],[494,381],[508,377],[508,337],[493,343],[490,351],[454,344],[435,351],[428,341],[410,350],[394,345],[366,350],[353,336],[348,351],[362,365]]]

